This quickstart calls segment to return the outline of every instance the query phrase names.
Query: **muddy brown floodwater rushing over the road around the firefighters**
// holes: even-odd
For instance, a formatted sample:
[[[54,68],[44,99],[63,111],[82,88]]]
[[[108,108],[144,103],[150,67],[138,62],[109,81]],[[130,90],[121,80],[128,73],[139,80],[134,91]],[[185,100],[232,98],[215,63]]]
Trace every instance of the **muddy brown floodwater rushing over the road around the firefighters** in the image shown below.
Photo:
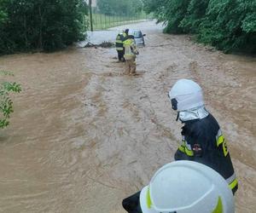
[[[201,84],[229,140],[236,212],[256,212],[255,58],[162,34],[154,22],[132,27],[147,34],[137,77],[123,74],[115,49],[0,58],[23,89],[0,131],[0,212],[124,212],[121,200],[173,160],[181,124],[166,94],[179,78]]]

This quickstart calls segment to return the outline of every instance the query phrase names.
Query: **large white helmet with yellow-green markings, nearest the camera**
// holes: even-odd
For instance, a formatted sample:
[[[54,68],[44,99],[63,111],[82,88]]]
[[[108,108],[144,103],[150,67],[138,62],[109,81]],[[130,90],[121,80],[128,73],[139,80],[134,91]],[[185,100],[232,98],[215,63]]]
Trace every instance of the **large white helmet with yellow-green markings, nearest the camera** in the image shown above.
[[[235,213],[228,183],[194,161],[164,165],[140,193],[143,213]]]

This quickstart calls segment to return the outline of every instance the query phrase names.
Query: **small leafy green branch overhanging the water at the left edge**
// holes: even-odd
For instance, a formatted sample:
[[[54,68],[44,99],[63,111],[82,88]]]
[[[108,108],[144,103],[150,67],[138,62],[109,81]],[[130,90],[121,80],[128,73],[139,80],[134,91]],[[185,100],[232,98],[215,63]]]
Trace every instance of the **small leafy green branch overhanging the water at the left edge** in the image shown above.
[[[2,76],[12,76],[10,72],[0,71]],[[14,112],[13,101],[9,93],[19,93],[21,91],[20,84],[15,82],[0,81],[0,129],[9,125],[10,114]]]

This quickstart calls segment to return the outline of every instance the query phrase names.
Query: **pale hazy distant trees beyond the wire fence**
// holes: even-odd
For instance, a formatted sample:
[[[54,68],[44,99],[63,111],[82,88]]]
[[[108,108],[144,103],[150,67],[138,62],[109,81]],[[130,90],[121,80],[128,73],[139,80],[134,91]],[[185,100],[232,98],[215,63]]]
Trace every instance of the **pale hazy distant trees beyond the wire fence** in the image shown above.
[[[97,0],[97,7],[102,14],[132,15],[142,11],[141,0]]]

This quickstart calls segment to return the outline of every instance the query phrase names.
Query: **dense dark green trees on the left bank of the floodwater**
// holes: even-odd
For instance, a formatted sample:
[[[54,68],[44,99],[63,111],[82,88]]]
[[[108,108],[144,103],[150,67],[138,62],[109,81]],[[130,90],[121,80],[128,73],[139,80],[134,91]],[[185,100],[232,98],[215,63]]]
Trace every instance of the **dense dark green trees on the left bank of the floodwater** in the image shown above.
[[[84,0],[0,0],[0,54],[53,50],[84,32]]]

